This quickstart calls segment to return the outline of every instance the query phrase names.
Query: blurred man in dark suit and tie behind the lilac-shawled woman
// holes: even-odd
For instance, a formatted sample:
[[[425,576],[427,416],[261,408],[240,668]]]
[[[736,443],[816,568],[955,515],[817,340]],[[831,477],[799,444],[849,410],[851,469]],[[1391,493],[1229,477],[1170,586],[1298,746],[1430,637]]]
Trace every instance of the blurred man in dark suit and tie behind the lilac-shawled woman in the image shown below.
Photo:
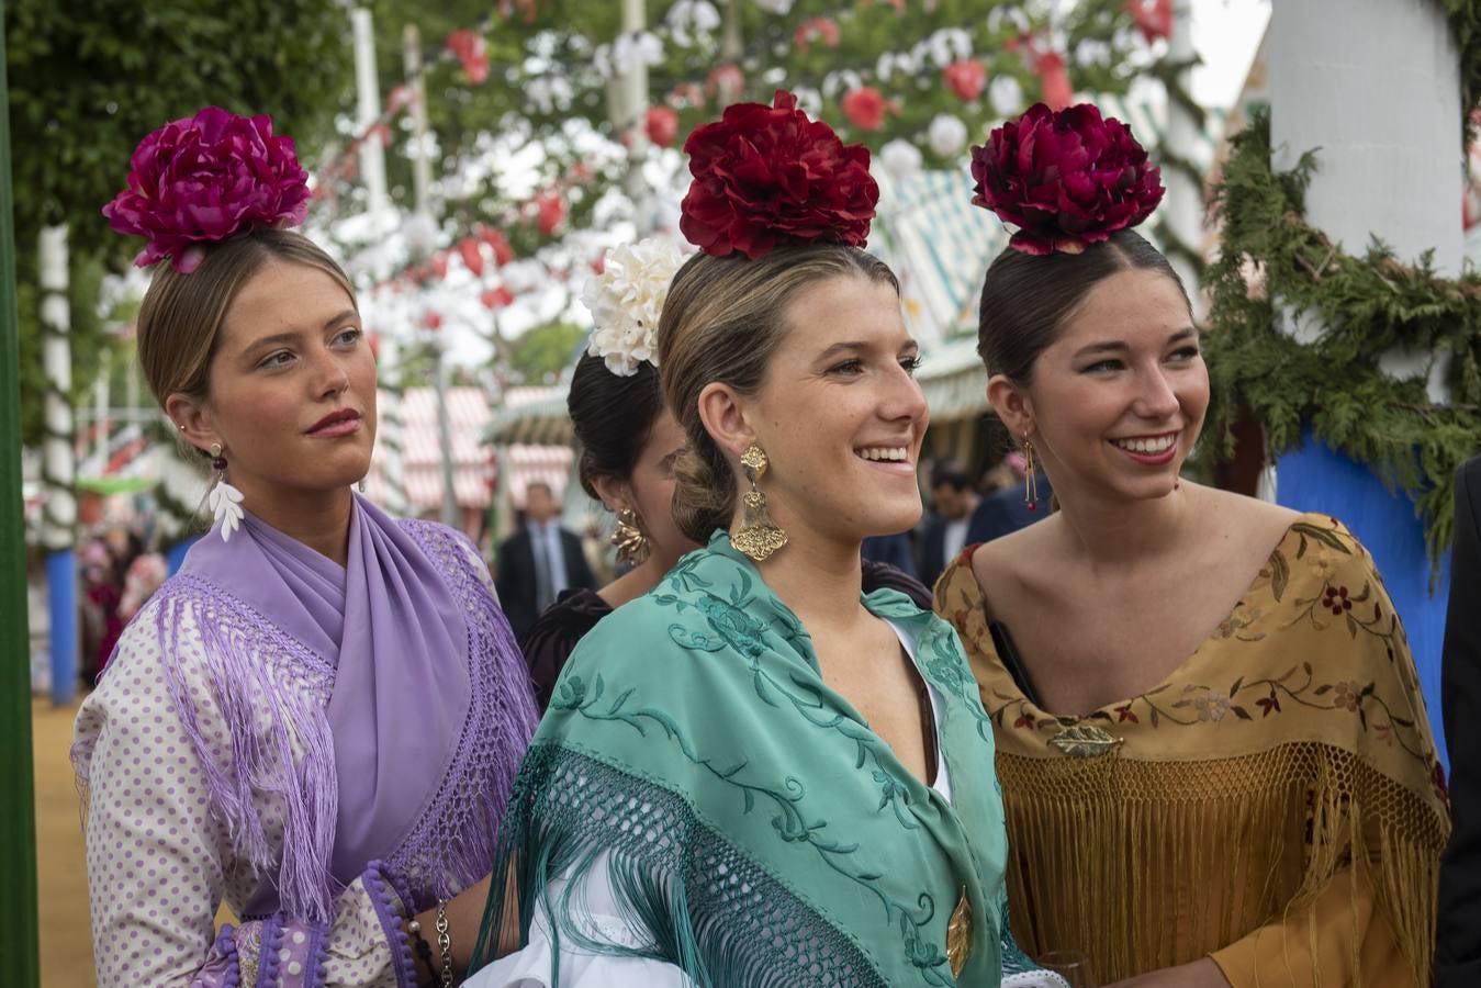
[[[555,498],[538,481],[524,489],[524,527],[499,547],[498,567],[495,587],[515,638],[563,590],[597,588],[581,539],[560,526]]]

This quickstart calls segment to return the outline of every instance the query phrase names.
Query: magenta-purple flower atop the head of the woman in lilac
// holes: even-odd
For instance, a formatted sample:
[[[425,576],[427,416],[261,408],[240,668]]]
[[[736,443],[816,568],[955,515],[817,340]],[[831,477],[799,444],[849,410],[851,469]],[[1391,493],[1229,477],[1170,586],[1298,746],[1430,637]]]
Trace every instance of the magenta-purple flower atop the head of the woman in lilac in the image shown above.
[[[256,227],[296,227],[308,213],[308,172],[273,119],[206,107],[139,142],[129,188],[102,207],[121,234],[147,237],[133,262],[169,258],[190,274],[204,246]]]

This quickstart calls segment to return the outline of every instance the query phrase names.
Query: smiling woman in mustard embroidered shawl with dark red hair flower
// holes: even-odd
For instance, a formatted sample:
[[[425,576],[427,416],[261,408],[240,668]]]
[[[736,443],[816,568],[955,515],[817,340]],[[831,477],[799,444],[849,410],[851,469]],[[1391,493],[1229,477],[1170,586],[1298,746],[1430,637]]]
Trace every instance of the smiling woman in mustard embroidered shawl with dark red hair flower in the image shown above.
[[[1044,194],[1026,141],[1084,163],[1054,181],[1114,179],[1077,193],[1093,216],[1014,204]],[[1059,511],[969,547],[936,609],[997,730],[1022,942],[1103,984],[1428,985],[1448,822],[1404,630],[1342,523],[1180,480],[1198,330],[1115,225],[1157,169],[1081,105],[995,132],[974,173],[1020,225],[982,289],[988,397]]]

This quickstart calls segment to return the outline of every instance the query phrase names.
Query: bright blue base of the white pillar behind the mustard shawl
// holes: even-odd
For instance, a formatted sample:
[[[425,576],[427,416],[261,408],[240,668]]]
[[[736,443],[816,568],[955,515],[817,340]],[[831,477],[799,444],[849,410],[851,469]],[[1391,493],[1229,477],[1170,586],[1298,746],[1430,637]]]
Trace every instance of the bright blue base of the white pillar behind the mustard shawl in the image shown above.
[[[1431,594],[1425,530],[1414,515],[1414,504],[1403,493],[1391,493],[1367,467],[1315,441],[1309,431],[1300,449],[1277,461],[1275,477],[1280,504],[1334,515],[1373,554],[1414,652],[1429,726],[1448,772],[1440,720],[1440,649],[1450,597],[1450,553],[1441,560],[1440,579]]]

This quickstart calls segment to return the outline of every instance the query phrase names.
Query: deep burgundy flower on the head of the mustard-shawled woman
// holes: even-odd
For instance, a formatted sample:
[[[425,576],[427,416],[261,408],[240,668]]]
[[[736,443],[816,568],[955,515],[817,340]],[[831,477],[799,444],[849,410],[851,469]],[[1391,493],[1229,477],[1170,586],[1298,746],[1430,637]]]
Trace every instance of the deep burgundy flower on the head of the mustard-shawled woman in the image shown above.
[[[1161,172],[1120,120],[1094,105],[1035,104],[972,148],[974,206],[1016,227],[1023,253],[1080,253],[1152,215]]]

